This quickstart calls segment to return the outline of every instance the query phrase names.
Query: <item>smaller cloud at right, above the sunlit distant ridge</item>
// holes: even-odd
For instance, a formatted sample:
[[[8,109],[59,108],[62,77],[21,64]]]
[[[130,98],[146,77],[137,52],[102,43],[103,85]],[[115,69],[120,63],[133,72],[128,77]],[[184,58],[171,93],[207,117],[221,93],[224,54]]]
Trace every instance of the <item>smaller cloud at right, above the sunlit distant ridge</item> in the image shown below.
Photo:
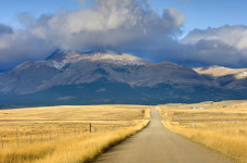
[[[247,66],[247,26],[194,29],[182,41],[186,58],[200,64]]]

